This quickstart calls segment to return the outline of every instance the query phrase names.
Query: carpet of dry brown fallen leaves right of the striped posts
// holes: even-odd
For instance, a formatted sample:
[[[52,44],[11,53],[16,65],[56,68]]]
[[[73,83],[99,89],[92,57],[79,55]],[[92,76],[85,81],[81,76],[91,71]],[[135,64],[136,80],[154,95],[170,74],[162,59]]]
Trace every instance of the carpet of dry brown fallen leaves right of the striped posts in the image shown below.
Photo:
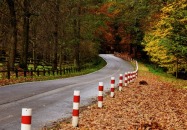
[[[148,85],[139,85],[146,81]],[[115,91],[115,98],[106,96],[103,108],[97,104],[81,111],[79,127],[71,121],[61,122],[54,129],[62,130],[187,130],[187,90],[174,88],[147,73]]]

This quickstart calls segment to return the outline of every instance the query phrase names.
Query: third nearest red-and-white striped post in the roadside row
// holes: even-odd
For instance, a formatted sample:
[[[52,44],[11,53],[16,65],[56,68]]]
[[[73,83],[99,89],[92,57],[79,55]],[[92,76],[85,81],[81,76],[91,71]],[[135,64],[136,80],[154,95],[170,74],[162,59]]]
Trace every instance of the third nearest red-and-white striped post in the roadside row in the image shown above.
[[[103,107],[103,82],[99,82],[98,86],[98,107]]]

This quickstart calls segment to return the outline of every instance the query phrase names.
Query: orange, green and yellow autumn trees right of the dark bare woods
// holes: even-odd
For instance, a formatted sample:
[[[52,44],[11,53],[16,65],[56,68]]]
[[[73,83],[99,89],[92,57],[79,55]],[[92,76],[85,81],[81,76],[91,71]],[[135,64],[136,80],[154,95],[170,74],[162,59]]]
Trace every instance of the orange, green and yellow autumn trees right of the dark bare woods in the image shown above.
[[[128,53],[176,77],[179,73],[185,75],[186,7],[185,0],[104,2],[96,11],[103,21],[96,33],[101,52]]]

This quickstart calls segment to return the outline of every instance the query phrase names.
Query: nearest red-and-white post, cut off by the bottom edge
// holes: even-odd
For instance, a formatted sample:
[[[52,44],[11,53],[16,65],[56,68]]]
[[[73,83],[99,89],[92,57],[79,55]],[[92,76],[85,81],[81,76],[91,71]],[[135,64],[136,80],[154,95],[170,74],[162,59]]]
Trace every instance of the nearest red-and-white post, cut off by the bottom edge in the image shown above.
[[[21,130],[31,130],[32,109],[22,108]]]

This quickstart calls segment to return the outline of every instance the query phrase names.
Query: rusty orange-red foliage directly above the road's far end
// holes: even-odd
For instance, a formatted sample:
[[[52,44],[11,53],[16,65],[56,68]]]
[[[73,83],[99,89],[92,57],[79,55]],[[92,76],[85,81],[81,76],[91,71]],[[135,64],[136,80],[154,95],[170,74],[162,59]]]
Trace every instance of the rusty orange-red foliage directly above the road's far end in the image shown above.
[[[96,11],[96,14],[104,19],[104,23],[99,26],[96,33],[101,39],[101,52],[129,51],[132,36],[127,32],[126,26],[130,24],[120,19],[123,17],[123,6],[119,6],[116,2],[108,2]]]

